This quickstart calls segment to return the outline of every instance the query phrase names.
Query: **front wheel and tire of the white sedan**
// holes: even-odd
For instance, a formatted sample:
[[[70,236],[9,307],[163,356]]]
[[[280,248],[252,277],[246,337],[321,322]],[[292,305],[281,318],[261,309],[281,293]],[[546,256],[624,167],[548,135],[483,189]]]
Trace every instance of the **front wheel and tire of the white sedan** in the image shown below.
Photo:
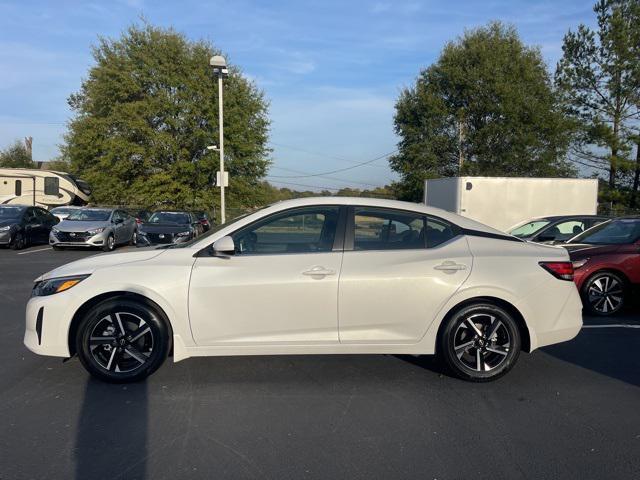
[[[80,362],[91,375],[128,383],[145,379],[162,365],[171,334],[164,315],[150,303],[115,298],[86,313],[75,342]]]

